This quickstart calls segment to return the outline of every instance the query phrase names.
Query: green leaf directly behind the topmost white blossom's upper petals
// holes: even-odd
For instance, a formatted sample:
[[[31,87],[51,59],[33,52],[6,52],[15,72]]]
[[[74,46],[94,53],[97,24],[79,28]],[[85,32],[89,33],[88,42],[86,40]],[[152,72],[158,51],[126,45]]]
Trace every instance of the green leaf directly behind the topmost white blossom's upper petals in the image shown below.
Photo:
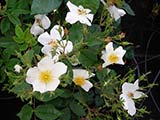
[[[99,8],[99,0],[70,0],[77,6],[82,5],[85,9],[91,9],[91,13],[95,14]]]

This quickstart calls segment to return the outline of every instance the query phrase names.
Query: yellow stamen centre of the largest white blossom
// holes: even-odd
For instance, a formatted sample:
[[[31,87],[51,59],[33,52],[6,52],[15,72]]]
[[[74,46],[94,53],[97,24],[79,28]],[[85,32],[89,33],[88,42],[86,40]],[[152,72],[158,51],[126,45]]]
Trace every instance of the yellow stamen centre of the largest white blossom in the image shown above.
[[[49,83],[53,79],[52,71],[46,70],[40,72],[39,79],[43,83]]]

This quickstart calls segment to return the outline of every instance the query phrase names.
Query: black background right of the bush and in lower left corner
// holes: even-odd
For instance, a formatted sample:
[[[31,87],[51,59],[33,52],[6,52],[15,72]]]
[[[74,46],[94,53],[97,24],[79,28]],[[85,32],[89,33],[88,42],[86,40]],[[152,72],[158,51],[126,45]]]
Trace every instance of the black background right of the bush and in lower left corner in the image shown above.
[[[150,83],[159,83],[160,70],[160,11],[152,11],[158,0],[128,0],[136,16],[125,15],[122,18],[122,30],[128,41],[134,43],[135,61],[140,74],[151,71]],[[2,88],[2,86],[0,86]],[[13,94],[0,92],[0,117],[2,120],[18,120],[16,114],[23,103]],[[160,120],[160,88],[155,86],[148,92],[148,98],[142,103],[151,111],[141,120]],[[139,106],[137,106],[139,107]]]

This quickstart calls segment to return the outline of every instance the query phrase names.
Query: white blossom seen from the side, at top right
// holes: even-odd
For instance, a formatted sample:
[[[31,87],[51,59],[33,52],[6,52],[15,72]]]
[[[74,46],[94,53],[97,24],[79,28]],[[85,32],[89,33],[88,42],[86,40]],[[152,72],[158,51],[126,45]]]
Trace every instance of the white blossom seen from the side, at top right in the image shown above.
[[[117,8],[115,5],[110,5],[108,11],[111,14],[111,17],[117,21],[121,16],[124,16],[126,12],[123,9]]]

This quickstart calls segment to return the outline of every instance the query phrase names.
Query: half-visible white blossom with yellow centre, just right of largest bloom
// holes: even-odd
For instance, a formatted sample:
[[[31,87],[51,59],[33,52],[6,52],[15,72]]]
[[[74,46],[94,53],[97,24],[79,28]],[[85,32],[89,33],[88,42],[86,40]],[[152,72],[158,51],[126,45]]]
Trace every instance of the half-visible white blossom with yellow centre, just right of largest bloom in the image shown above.
[[[82,87],[86,92],[88,92],[89,89],[93,87],[93,84],[87,80],[92,76],[94,76],[94,74],[89,74],[87,70],[73,69],[73,82],[76,85]]]

